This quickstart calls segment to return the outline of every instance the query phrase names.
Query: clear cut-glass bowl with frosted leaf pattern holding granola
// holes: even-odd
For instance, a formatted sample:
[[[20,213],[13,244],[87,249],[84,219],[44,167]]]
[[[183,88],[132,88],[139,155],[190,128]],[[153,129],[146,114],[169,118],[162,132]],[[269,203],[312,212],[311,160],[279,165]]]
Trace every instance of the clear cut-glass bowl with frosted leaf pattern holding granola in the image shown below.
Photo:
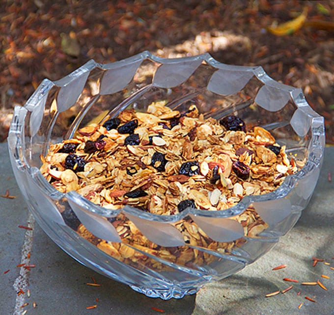
[[[299,171],[275,191],[246,196],[230,209],[188,208],[169,216],[130,206],[102,208],[74,191],[61,193],[42,176],[40,156],[50,144],[73,137],[92,119],[99,122],[125,108],[143,111],[156,100],[167,100],[167,106],[178,110],[195,104],[205,117],[234,114],[247,126],[261,126],[279,145],[286,145]],[[23,107],[15,107],[8,136],[16,181],[36,221],[56,244],[85,266],[163,299],[193,294],[268,252],[305,209],[319,177],[324,146],[324,120],[301,89],[278,83],[261,67],[222,64],[207,53],[164,59],[143,52],[109,64],[90,60],[55,82],[43,80]],[[244,233],[231,219],[250,207],[266,222],[261,233]],[[149,246],[125,242],[124,231],[117,229],[119,216],[129,219]],[[174,227],[189,220],[197,227],[193,237],[205,234],[207,246],[185,242]],[[77,232],[79,224],[83,233]],[[101,239],[117,254],[97,246]]]

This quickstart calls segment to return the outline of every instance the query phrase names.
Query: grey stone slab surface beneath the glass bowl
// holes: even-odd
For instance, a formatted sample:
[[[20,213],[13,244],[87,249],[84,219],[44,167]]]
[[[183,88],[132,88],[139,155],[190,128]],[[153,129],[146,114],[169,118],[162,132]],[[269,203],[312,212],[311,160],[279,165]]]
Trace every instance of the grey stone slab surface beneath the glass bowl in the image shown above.
[[[9,189],[15,199],[0,198],[0,315],[22,314],[334,314],[334,182],[328,181],[328,172],[334,175],[334,147],[325,150],[325,161],[311,202],[296,226],[276,247],[239,273],[204,286],[196,295],[181,300],[148,298],[126,285],[112,281],[82,266],[59,249],[34,224],[11,172],[7,145],[0,144],[0,194]],[[33,230],[18,228],[31,226]],[[25,245],[23,246],[23,244]],[[30,252],[30,259],[27,254]],[[312,266],[312,257],[330,262]],[[35,264],[29,272],[16,267],[25,262]],[[271,269],[280,264],[287,267]],[[3,274],[4,271],[9,272]],[[330,276],[330,279],[321,275]],[[94,277],[101,287],[85,285]],[[288,283],[284,277],[302,281],[320,281],[319,286]],[[265,294],[287,288],[285,294],[265,298]],[[25,294],[17,295],[18,285]],[[30,289],[30,297],[27,289]],[[297,294],[301,291],[300,295]],[[316,303],[307,301],[314,298]],[[96,302],[98,298],[98,302]],[[36,308],[33,308],[33,302]],[[27,306],[20,308],[24,303]],[[301,309],[298,305],[303,303]],[[86,310],[87,306],[97,305]]]

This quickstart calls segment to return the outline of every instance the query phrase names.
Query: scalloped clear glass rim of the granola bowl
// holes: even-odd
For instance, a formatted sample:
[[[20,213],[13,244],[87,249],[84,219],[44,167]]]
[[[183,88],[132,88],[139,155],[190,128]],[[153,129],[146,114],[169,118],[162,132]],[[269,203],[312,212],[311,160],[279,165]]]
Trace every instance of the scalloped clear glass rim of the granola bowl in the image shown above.
[[[257,77],[257,79],[259,79],[263,83],[268,84],[278,89],[283,89],[285,91],[288,91],[290,94],[291,100],[295,103],[295,105],[298,108],[299,107],[307,108],[308,115],[311,115],[310,116],[311,117],[310,128],[312,130],[311,141],[314,138],[314,135],[324,136],[325,134],[323,117],[320,116],[318,113],[316,113],[308,105],[308,103],[305,100],[303,91],[300,88],[295,88],[289,85],[279,83],[278,81],[269,77],[261,66],[248,67],[248,66],[223,64],[215,60],[209,53],[204,53],[204,54],[199,54],[199,55],[189,56],[189,57],[181,57],[181,58],[161,58],[161,57],[153,55],[152,53],[148,51],[144,51],[142,53],[136,54],[129,58],[126,58],[120,61],[116,61],[116,62],[112,62],[112,63],[106,63],[106,64],[97,63],[96,61],[91,59],[85,64],[83,64],[83,66],[76,69],[69,75],[63,77],[62,79],[58,79],[56,81],[44,79],[39,84],[39,86],[36,88],[34,93],[30,96],[30,98],[28,99],[28,101],[26,102],[24,106],[15,106],[13,117],[20,117],[21,116],[20,112],[22,110],[27,111],[27,110],[32,109],[34,104],[36,104],[36,101],[39,100],[38,97],[41,94],[48,93],[53,86],[58,86],[58,87],[66,86],[72,80],[76,79],[77,78],[76,76],[82,74],[83,72],[91,71],[94,68],[100,68],[101,70],[109,70],[112,68],[122,66],[122,64],[129,64],[131,62],[135,62],[139,60],[143,61],[145,59],[150,59],[151,61],[155,61],[161,64],[202,59],[202,61],[206,61],[209,65],[217,69],[251,71]],[[9,129],[9,134],[10,133],[15,134],[16,141],[15,141],[15,145],[13,146],[13,149],[15,150],[17,150],[18,148],[22,148],[22,140],[21,140],[22,131],[20,130],[20,127],[22,128],[22,125],[20,125],[20,121],[17,121],[13,118],[13,121]],[[8,146],[10,146],[9,136],[8,136]],[[321,166],[324,146],[325,146],[324,143],[319,143],[318,145],[315,143],[312,143],[312,146],[309,146],[308,148],[310,150],[310,153],[307,157],[306,164],[304,165],[304,167],[298,172],[296,172],[295,174],[286,176],[283,183],[280,184],[278,188],[276,188],[272,192],[269,192],[263,195],[245,196],[240,202],[238,202],[238,204],[236,204],[235,206],[231,208],[225,209],[223,211],[222,210],[208,211],[208,210],[187,208],[183,210],[182,212],[173,214],[173,215],[163,215],[163,214],[143,212],[142,210],[139,210],[137,208],[130,207],[130,206],[125,206],[117,210],[110,210],[110,209],[98,206],[92,203],[91,201],[85,199],[83,196],[81,196],[76,191],[70,191],[67,193],[62,193],[58,191],[49,182],[47,182],[47,180],[43,177],[42,173],[39,171],[37,167],[31,167],[28,164],[24,155],[23,155],[23,161],[21,161],[19,157],[15,157],[15,159],[16,159],[17,166],[20,169],[28,170],[28,174],[31,180],[37,179],[38,182],[36,184],[38,184],[39,187],[42,189],[42,191],[44,191],[53,200],[60,200],[62,198],[66,198],[80,205],[87,211],[90,211],[90,212],[93,212],[93,213],[96,213],[98,215],[105,216],[105,217],[114,217],[117,214],[119,214],[121,211],[124,211],[126,213],[133,214],[145,220],[171,223],[171,222],[179,221],[183,219],[184,217],[188,216],[189,214],[192,214],[195,216],[202,216],[202,217],[211,217],[211,218],[228,218],[228,217],[235,216],[235,215],[242,213],[250,206],[251,203],[271,201],[271,200],[275,200],[279,198],[284,198],[286,195],[288,195],[292,191],[292,189],[295,187],[298,180],[301,180],[307,177],[309,173],[314,170],[314,168],[319,168]]]

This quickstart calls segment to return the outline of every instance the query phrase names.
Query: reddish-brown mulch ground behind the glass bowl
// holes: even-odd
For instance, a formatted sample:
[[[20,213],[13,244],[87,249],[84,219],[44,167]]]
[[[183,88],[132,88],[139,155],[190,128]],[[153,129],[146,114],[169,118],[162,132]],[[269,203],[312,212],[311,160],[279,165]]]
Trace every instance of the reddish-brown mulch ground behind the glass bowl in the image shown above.
[[[24,105],[44,78],[60,79],[89,59],[106,63],[148,50],[164,57],[208,52],[227,64],[261,65],[303,89],[334,144],[333,1],[0,2],[1,141],[13,107]],[[267,31],[304,9],[309,23],[293,34]]]

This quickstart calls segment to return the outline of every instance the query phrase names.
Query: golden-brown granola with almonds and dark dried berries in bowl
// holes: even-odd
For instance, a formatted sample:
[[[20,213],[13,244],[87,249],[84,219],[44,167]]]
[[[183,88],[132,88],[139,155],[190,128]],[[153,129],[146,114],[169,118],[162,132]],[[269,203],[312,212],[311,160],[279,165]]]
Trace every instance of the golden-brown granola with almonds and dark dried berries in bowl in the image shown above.
[[[147,112],[126,109],[116,118],[83,127],[75,138],[52,144],[41,158],[42,174],[61,192],[76,190],[112,210],[130,205],[162,215],[189,207],[225,210],[246,195],[275,190],[285,176],[297,171],[285,146],[280,147],[269,131],[247,130],[235,116],[204,119],[195,105],[179,112],[164,101],[152,103]],[[232,219],[241,223],[246,236],[256,236],[268,227],[252,207]],[[134,248],[180,264],[216,259],[187,245],[176,250],[154,244],[123,214],[111,221],[122,243],[95,242],[117,259],[163,268]],[[245,242],[216,242],[189,217],[174,226],[186,243],[198,248],[230,253]],[[82,224],[78,233],[94,238]]]

